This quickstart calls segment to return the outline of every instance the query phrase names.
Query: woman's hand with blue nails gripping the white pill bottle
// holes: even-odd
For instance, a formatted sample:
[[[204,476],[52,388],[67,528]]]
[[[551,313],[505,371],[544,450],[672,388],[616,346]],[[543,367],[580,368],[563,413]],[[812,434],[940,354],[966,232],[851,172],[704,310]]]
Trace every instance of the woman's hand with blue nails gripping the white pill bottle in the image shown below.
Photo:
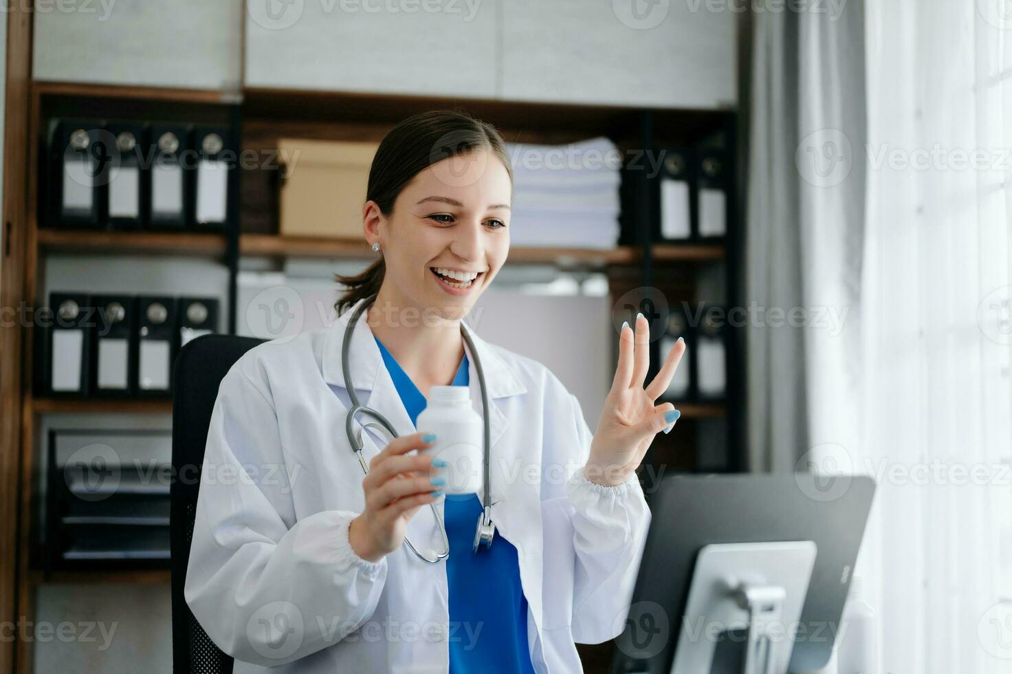
[[[429,441],[424,442],[423,436]],[[365,510],[348,525],[348,542],[358,557],[378,562],[400,547],[418,509],[441,496],[442,491],[435,490],[444,483],[430,474],[441,461],[426,454],[408,454],[431,446],[433,440],[431,433],[404,435],[369,460],[369,474],[362,480]]]

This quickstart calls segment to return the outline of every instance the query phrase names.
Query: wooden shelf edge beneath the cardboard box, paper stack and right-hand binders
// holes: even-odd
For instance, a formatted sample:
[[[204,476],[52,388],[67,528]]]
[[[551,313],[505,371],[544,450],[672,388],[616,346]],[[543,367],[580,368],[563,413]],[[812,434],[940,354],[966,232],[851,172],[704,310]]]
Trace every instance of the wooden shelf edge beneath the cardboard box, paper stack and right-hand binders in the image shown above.
[[[672,245],[653,247],[658,260],[706,261],[724,259],[724,246]],[[239,253],[251,257],[316,257],[372,259],[375,254],[358,239],[324,237],[283,237],[270,234],[243,234]],[[510,248],[508,264],[558,264],[560,266],[606,266],[636,264],[642,258],[638,247],[618,246],[612,250],[584,248]]]

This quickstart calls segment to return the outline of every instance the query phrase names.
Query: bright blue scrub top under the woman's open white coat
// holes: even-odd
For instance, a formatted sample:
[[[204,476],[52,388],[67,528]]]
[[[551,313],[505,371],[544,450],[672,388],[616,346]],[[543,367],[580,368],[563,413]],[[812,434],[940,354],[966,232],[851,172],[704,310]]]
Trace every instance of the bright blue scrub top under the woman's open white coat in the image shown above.
[[[373,335],[411,423],[425,397]],[[452,386],[468,386],[468,354]],[[449,584],[449,671],[452,674],[530,672],[527,648],[527,599],[520,586],[516,547],[496,530],[492,547],[472,552],[475,528],[482,514],[477,494],[447,494],[443,518],[449,538],[446,580]]]

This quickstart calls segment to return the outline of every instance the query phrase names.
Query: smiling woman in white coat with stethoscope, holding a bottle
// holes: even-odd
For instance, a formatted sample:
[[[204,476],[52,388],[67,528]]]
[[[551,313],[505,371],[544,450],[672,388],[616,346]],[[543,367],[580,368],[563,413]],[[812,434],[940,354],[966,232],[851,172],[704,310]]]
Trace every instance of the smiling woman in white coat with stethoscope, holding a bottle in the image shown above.
[[[256,346],[222,381],[184,594],[237,673],[579,672],[575,643],[622,630],[650,523],[636,469],[678,418],[655,401],[683,342],[645,388],[648,321],[623,325],[591,434],[546,367],[466,323],[490,404],[491,546],[472,547],[484,489],[443,495],[438,464],[418,451],[431,446],[415,428],[430,387],[466,385],[482,409],[460,321],[506,261],[511,195],[488,123],[450,111],[401,122],[376,150],[362,213],[378,258],[339,277],[337,319]],[[341,347],[373,294],[347,374],[399,437],[364,430],[365,476],[345,433]],[[449,556],[429,563],[404,542],[444,550],[434,511]]]

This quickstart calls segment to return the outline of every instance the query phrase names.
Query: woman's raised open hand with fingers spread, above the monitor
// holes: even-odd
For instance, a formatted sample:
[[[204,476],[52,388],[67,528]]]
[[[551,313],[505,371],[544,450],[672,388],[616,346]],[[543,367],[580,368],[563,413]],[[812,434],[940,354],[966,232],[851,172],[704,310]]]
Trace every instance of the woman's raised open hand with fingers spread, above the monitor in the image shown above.
[[[625,482],[640,467],[654,436],[678,419],[680,413],[674,405],[655,406],[654,401],[667,391],[684,352],[685,342],[679,339],[657,376],[644,389],[650,369],[650,324],[643,314],[637,316],[635,343],[632,329],[627,323],[622,325],[615,377],[604,399],[584,469],[588,480],[608,487]]]

